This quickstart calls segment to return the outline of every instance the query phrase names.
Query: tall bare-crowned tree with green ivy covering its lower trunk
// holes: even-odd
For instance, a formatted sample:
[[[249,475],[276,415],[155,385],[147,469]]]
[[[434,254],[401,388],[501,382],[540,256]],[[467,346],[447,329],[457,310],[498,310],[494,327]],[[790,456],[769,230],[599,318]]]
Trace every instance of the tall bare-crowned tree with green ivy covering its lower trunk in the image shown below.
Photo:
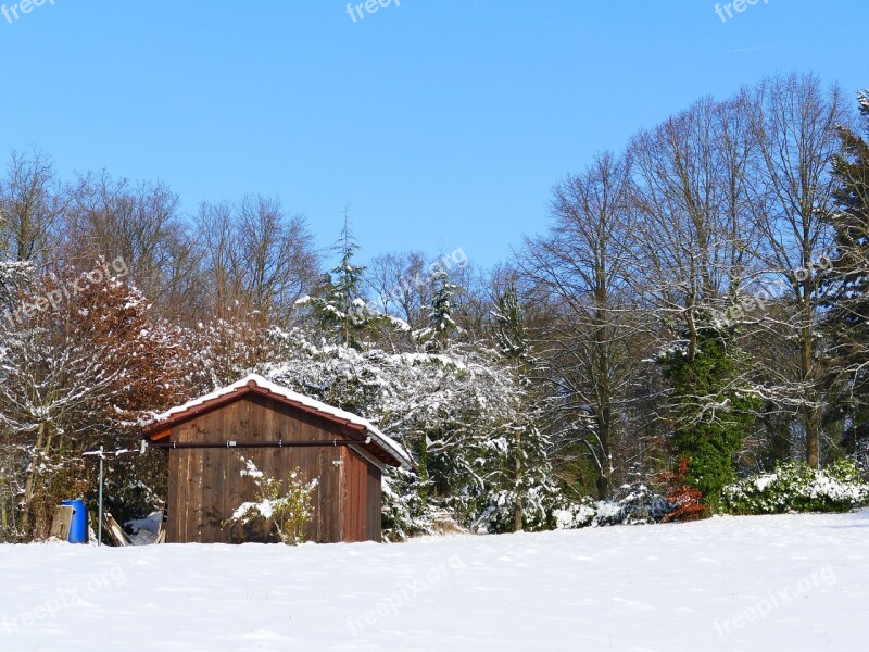
[[[656,409],[695,479],[734,469],[750,419],[731,410],[748,385],[733,328],[716,312],[739,296],[751,251],[746,170],[752,139],[745,103],[709,98],[640,133],[634,162],[638,214],[632,284],[663,354],[666,396]],[[733,423],[735,418],[736,423]],[[715,501],[716,481],[703,487]]]

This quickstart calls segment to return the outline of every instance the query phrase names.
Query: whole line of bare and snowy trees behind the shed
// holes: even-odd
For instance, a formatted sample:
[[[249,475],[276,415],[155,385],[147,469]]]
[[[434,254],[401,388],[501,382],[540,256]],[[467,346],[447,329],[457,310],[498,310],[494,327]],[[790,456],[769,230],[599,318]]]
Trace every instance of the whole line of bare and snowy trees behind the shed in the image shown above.
[[[0,314],[95,263],[128,275],[0,319],[2,537],[45,536],[59,499],[92,491],[84,450],[250,371],[411,450],[419,473],[389,479],[385,509],[405,534],[551,527],[677,469],[715,511],[741,475],[865,459],[858,100],[805,74],[702,98],[558,181],[549,228],[491,269],[464,251],[363,265],[347,217],[320,251],[267,197],[189,214],[165,184],[63,180],[13,152]],[[118,463],[115,510],[158,503],[163,464]]]

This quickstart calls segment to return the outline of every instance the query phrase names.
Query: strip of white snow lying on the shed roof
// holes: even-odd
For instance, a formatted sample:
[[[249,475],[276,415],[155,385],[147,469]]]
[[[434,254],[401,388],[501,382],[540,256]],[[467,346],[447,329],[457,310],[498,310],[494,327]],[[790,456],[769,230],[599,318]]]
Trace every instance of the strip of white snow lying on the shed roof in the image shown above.
[[[248,387],[250,383],[255,384],[257,387],[265,389],[266,391],[277,394],[281,398],[287,399],[288,401],[292,401],[294,403],[300,403],[305,408],[310,408],[316,412],[322,412],[324,414],[335,416],[339,419],[344,419],[350,422],[354,425],[361,426],[365,428],[368,435],[371,437],[371,440],[375,441],[381,449],[386,450],[390,454],[392,454],[396,460],[399,460],[402,466],[408,471],[413,469],[414,464],[411,460],[411,456],[407,454],[407,451],[404,450],[400,443],[398,443],[391,437],[383,435],[379,428],[377,428],[371,422],[366,418],[358,416],[357,414],[353,414],[352,412],[345,412],[339,408],[335,408],[332,405],[328,405],[311,397],[306,397],[304,394],[300,394],[299,392],[292,391],[286,387],[272,383],[266,378],[260,376],[259,374],[250,374],[244,376],[241,380],[237,380],[232,385],[228,385],[222,389],[217,389],[204,397],[199,397],[198,399],[193,399],[185,403],[184,405],[178,405],[177,408],[173,408],[162,414],[156,415],[151,419],[149,423],[146,424],[147,427],[153,426],[164,421],[171,419],[176,414],[181,412],[187,412],[188,410],[193,410],[199,405],[207,403],[210,401],[214,401],[227,394],[230,394],[237,390],[243,389]]]

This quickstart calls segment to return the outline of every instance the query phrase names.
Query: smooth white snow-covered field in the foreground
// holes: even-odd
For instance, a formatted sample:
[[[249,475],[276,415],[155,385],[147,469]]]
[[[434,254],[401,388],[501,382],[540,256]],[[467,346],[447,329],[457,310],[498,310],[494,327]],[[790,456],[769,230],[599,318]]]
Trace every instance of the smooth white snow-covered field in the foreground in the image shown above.
[[[405,544],[0,546],[0,650],[869,645],[869,512]]]

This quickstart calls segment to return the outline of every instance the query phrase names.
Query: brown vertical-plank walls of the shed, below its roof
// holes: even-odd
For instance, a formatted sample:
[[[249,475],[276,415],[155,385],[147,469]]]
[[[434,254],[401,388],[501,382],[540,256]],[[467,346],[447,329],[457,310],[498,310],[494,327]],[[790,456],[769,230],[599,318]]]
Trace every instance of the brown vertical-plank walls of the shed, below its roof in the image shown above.
[[[331,441],[345,439],[345,435],[340,426],[327,419],[249,394],[175,426],[172,439],[219,443],[281,439]],[[380,469],[348,447],[325,446],[169,449],[167,542],[235,543],[268,539],[263,528],[222,525],[239,505],[254,500],[253,480],[241,476],[244,468],[241,456],[252,460],[272,477],[287,478],[299,467],[304,481],[318,479],[313,500],[314,518],[305,531],[307,540],[322,543],[380,540]]]

